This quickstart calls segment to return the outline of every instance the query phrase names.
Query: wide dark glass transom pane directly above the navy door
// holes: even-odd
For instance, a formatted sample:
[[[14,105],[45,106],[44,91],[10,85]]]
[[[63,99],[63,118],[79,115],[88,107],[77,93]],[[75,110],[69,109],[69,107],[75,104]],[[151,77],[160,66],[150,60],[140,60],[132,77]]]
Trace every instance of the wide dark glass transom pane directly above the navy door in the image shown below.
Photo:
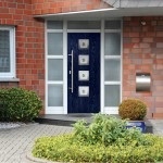
[[[100,21],[70,21],[67,23],[68,29],[100,29]]]

